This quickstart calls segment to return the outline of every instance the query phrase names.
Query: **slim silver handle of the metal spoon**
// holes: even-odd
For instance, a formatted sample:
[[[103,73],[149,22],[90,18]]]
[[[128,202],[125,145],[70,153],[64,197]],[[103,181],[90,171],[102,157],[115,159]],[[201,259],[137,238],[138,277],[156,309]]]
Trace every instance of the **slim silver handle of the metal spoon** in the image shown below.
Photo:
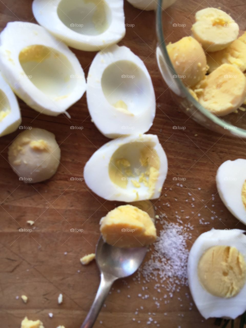
[[[85,321],[83,322],[82,326],[80,328],[92,328],[96,318],[101,310],[101,307],[103,305],[103,302],[105,298],[107,297],[111,286],[113,285],[114,278],[112,276],[104,275],[101,273],[101,281],[100,285],[98,287],[95,299],[92,303],[92,306],[90,308],[90,311],[88,312],[88,315],[85,318]]]

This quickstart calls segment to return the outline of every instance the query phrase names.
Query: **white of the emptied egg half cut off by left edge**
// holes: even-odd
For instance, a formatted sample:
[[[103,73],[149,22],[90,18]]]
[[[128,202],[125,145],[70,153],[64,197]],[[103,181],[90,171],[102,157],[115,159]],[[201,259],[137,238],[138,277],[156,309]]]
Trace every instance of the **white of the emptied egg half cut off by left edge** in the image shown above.
[[[1,103],[1,106],[4,106],[4,102],[8,103],[7,110],[10,110],[10,113],[5,116],[0,121],[0,136],[9,134],[18,129],[18,126],[21,124],[21,113],[18,101],[11,90],[10,86],[6,83],[2,75],[0,74],[0,92],[2,93],[4,99]]]

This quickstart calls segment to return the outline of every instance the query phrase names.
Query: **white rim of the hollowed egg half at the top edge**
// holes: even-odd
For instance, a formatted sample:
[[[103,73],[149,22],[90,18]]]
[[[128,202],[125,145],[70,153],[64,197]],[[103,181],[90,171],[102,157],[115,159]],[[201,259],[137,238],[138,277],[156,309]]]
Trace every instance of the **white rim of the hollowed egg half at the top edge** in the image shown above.
[[[104,49],[108,45],[119,42],[126,33],[123,0],[103,1],[110,11],[108,14],[110,22],[105,31],[102,33],[98,32],[98,34],[95,35],[82,34],[74,31],[61,21],[57,13],[57,8],[59,7],[61,0],[34,0],[32,3],[32,11],[40,25],[45,27],[70,47],[85,51],[97,51]],[[67,2],[70,4],[71,11],[67,13],[65,12],[65,16],[71,21],[72,25],[78,24],[78,22],[73,19],[73,14],[77,16],[76,11],[81,10],[83,12],[84,6],[89,6],[93,3],[92,1],[77,0],[77,7],[73,8],[71,2],[69,0]],[[87,13],[85,17],[81,16],[79,21],[81,25],[83,25],[83,23],[85,25],[88,24],[86,19],[88,20],[92,11],[93,9],[89,10],[89,13]]]

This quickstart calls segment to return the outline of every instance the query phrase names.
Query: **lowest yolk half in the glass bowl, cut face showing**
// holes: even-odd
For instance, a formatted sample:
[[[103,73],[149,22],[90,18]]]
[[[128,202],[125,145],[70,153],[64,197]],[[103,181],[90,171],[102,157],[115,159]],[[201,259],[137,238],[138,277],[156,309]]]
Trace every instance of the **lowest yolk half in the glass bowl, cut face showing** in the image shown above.
[[[235,66],[222,64],[193,89],[199,103],[210,112],[224,116],[245,101],[246,77]]]

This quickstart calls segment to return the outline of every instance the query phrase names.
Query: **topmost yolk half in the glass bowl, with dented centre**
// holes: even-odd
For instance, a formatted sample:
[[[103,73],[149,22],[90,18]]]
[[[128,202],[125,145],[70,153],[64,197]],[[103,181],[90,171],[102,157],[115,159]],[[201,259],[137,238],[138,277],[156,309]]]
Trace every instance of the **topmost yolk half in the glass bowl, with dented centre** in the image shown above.
[[[193,36],[207,52],[226,48],[238,36],[237,23],[223,10],[211,7],[198,10],[195,20],[191,29]]]

